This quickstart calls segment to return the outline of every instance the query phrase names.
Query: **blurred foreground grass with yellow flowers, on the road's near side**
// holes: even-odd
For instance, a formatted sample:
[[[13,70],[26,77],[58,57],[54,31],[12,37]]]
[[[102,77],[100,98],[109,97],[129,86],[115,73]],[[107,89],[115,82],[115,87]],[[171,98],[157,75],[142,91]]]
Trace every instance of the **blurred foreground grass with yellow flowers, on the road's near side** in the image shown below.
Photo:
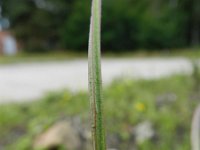
[[[119,139],[116,148],[131,144],[140,150],[190,150],[192,114],[200,102],[196,79],[174,76],[160,80],[118,79],[104,90],[108,137]],[[88,95],[61,91],[27,104],[0,106],[0,145],[5,150],[31,150],[34,137],[52,123],[69,116],[88,122]],[[131,130],[150,121],[155,135],[142,143]],[[117,147],[118,146],[118,147]]]

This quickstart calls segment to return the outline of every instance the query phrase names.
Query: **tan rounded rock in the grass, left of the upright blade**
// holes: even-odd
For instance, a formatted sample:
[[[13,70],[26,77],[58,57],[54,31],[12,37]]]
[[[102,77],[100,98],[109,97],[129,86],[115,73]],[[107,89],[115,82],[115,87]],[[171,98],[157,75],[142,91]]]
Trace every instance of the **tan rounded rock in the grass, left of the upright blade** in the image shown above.
[[[59,146],[64,146],[67,150],[79,150],[81,147],[79,133],[68,121],[56,123],[39,135],[33,144],[34,149],[52,149]]]

